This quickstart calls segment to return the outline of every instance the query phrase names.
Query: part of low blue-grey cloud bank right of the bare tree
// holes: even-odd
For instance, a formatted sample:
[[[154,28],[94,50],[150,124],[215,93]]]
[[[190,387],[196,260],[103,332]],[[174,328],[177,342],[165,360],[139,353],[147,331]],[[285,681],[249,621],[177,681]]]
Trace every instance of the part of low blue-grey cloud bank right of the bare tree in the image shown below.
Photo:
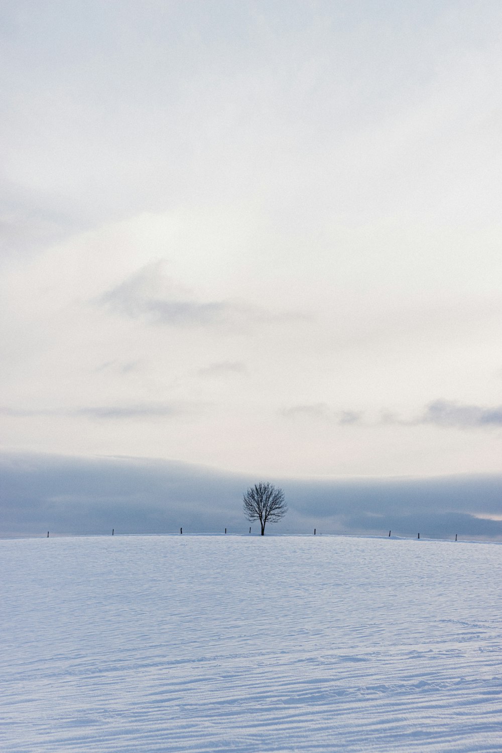
[[[290,508],[324,532],[502,538],[502,476],[284,480]]]

